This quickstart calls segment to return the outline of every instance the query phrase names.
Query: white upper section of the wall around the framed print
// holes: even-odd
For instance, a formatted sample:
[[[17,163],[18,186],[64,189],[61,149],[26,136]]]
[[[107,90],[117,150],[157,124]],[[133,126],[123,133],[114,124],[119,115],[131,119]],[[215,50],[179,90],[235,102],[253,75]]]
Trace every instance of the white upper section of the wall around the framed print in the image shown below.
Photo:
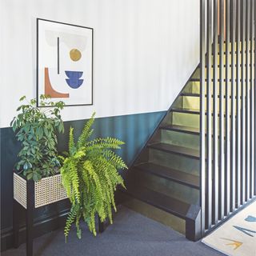
[[[199,61],[198,0],[1,0],[0,127],[36,96],[36,18],[94,28],[94,106],[64,120],[167,110]]]

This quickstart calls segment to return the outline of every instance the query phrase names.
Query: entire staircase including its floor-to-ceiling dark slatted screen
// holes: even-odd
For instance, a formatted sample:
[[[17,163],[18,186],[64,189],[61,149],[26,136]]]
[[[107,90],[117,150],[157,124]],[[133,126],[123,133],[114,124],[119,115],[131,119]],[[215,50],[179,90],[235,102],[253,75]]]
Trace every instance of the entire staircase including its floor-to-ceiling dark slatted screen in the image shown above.
[[[255,20],[254,1],[200,0],[200,64],[122,190],[193,241],[256,199]]]

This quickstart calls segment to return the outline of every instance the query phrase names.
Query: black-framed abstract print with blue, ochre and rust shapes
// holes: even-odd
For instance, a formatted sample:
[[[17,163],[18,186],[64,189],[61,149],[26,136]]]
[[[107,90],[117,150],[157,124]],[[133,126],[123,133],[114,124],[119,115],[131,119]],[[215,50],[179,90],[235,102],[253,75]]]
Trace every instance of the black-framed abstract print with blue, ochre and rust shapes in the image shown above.
[[[37,98],[93,104],[93,37],[89,27],[37,19]]]

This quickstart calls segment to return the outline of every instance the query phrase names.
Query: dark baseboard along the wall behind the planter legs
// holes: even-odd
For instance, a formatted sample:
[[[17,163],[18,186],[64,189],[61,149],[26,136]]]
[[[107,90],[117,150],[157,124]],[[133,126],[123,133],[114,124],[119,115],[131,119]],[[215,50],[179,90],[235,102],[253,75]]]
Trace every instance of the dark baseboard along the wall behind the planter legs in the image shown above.
[[[34,238],[58,230],[65,226],[66,216],[70,209],[62,210],[58,215],[45,218],[38,218],[34,221]],[[26,226],[23,225],[19,229],[19,244],[26,242]],[[8,228],[1,231],[1,251],[8,250],[13,247],[13,229]]]

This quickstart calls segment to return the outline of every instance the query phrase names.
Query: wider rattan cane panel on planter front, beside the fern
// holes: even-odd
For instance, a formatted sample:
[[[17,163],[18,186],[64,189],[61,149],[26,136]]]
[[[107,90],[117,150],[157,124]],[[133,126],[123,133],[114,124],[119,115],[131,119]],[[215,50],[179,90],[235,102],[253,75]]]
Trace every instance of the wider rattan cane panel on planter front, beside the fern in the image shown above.
[[[62,186],[61,174],[42,178],[39,182],[35,182],[34,193],[35,208],[67,198],[66,190]]]

